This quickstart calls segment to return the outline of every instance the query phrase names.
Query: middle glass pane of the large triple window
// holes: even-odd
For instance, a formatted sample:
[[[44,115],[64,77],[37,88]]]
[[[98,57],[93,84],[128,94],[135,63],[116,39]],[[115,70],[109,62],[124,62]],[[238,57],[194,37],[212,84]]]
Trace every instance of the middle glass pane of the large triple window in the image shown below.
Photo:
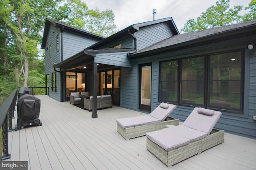
[[[182,60],[181,103],[204,104],[204,57]]]

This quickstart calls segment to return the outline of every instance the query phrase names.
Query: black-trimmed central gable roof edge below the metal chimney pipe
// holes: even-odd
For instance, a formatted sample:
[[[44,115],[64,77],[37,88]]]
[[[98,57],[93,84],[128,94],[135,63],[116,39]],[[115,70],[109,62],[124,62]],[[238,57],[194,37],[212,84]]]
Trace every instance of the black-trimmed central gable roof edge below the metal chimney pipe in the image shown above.
[[[168,23],[168,26],[174,32],[174,35],[179,34],[179,31],[178,31],[174,21],[172,20],[172,17],[169,17],[169,18],[163,18],[160,20],[153,20],[153,21],[147,21],[147,22],[143,22],[143,23],[136,23],[136,24],[130,25],[129,27],[126,27],[126,28],[122,29],[121,31],[118,31],[117,33],[111,35],[110,37],[107,37],[106,39],[103,39],[103,40],[99,41],[98,43],[95,43],[94,45],[92,45],[86,49],[98,49],[98,48],[102,47],[102,45],[105,45],[105,44],[110,43],[116,39],[119,39],[121,37],[129,35],[129,32],[135,33],[136,31],[139,31],[140,28],[142,28],[142,27],[146,27],[146,26],[150,26],[150,25],[154,25],[154,24],[158,24],[158,23]]]

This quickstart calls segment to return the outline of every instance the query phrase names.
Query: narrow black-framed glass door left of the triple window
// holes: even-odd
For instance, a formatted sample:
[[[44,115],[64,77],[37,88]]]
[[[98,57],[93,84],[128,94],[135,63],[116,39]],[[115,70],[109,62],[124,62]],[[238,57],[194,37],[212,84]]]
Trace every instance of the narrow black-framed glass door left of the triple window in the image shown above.
[[[140,65],[139,109],[151,111],[151,63]]]

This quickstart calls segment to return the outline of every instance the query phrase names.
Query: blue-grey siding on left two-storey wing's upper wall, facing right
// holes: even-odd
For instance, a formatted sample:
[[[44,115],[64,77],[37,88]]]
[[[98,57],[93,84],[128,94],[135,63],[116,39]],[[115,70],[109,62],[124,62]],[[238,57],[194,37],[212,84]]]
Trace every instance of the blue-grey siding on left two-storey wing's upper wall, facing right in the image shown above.
[[[88,38],[82,34],[64,31],[63,32],[63,60],[72,57],[73,55],[83,51],[85,48],[90,47],[98,40]]]

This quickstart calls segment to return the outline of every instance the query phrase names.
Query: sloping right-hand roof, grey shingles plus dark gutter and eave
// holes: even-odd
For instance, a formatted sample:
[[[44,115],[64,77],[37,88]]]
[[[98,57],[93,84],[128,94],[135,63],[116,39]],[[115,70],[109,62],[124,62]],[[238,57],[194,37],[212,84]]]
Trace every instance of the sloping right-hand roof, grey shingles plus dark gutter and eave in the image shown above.
[[[206,45],[226,39],[232,39],[234,38],[232,37],[234,35],[241,36],[242,33],[250,31],[256,33],[256,21],[247,21],[191,33],[178,34],[137,51],[136,53],[129,55],[128,58],[140,58],[147,55]],[[217,40],[218,38],[222,39]]]

